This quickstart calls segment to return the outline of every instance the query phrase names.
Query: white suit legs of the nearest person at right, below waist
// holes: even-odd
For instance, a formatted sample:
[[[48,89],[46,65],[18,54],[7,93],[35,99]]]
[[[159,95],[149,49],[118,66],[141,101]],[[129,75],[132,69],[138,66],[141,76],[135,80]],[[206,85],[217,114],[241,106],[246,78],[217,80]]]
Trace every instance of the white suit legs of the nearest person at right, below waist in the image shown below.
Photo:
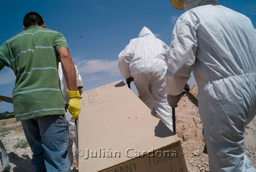
[[[231,76],[209,81],[198,92],[210,171],[256,171],[244,144],[245,126],[256,114],[255,80]]]

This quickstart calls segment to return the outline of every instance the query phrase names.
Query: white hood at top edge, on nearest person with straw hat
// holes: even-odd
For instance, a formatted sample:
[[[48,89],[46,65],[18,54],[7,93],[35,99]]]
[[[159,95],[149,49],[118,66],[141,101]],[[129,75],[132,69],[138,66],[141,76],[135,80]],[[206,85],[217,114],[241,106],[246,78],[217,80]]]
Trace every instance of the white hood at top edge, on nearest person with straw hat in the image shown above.
[[[218,0],[183,0],[185,11],[203,5],[219,5]]]

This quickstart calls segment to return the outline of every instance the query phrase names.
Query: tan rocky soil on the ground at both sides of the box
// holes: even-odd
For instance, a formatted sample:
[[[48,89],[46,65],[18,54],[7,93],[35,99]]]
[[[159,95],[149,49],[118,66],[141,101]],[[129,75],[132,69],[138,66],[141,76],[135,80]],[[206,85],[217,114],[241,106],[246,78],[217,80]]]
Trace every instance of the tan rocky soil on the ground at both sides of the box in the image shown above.
[[[190,91],[197,97],[197,87]],[[26,139],[20,122],[15,119],[0,120],[0,129],[3,127],[16,127],[15,130],[0,133],[0,139],[6,146],[9,155],[11,170],[32,171],[30,147],[14,148],[21,139]],[[198,114],[198,108],[184,95],[176,108],[176,133],[181,139],[183,153],[189,172],[209,171],[208,156],[203,153],[204,139],[201,134],[202,123]],[[246,127],[245,133],[246,155],[256,167],[256,118]],[[74,150],[75,148],[73,148]],[[2,159],[1,155],[0,158]],[[75,158],[74,158],[75,161]],[[74,166],[77,163],[74,162]],[[2,171],[2,164],[0,167]]]

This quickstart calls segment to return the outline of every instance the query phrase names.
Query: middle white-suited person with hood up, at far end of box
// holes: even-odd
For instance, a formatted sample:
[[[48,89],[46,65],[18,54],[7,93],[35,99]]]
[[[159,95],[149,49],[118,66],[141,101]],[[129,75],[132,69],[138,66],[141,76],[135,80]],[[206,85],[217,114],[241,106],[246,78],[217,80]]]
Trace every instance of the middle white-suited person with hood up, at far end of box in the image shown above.
[[[118,55],[118,68],[126,82],[134,84],[139,98],[156,116],[173,131],[172,111],[166,100],[164,76],[167,70],[165,55],[169,47],[146,27],[139,37],[132,39],[130,44]]]

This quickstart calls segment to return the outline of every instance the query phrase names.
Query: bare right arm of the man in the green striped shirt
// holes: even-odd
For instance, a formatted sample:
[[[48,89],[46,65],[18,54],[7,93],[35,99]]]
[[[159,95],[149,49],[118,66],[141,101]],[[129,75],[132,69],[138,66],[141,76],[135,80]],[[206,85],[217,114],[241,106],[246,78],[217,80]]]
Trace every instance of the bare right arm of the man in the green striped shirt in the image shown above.
[[[67,47],[60,47],[58,54],[63,75],[66,79],[69,91],[77,91],[76,69]]]

